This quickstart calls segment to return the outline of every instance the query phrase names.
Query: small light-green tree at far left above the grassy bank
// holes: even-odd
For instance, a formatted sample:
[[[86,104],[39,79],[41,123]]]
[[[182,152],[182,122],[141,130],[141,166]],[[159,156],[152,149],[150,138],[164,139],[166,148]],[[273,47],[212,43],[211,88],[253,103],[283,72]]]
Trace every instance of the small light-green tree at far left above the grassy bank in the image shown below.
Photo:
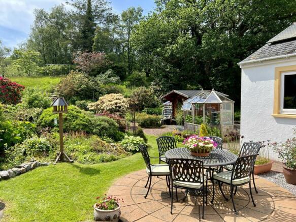
[[[12,66],[18,71],[19,75],[32,76],[40,71],[40,67],[37,65],[39,52],[15,49],[13,53],[16,60],[12,62]]]

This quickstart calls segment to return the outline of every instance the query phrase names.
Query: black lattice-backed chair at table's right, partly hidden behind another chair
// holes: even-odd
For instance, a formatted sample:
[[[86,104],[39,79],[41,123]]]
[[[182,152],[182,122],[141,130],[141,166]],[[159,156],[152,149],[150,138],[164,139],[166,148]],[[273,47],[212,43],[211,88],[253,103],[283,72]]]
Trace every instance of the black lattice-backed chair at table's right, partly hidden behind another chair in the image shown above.
[[[259,151],[260,151],[261,145],[259,143],[255,143],[255,142],[248,142],[248,143],[243,143],[243,146],[240,150],[240,154],[239,156],[248,156],[248,155],[258,155]],[[255,164],[255,162],[254,162]],[[224,169],[228,170],[228,171],[232,171],[233,169],[233,165],[227,165],[224,167]],[[258,194],[257,188],[256,188],[256,184],[255,184],[255,179],[254,179],[254,166],[252,168],[252,178],[253,178],[253,185],[255,188],[255,192],[256,194]],[[237,193],[237,187],[235,190],[235,195]]]

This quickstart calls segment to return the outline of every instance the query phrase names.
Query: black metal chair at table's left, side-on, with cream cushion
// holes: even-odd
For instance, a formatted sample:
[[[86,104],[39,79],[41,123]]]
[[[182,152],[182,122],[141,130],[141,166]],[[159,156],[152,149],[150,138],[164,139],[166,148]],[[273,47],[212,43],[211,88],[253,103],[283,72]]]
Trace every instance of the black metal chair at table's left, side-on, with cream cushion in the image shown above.
[[[170,192],[170,196],[171,196],[170,167],[169,167],[169,165],[168,164],[151,164],[150,158],[160,158],[160,157],[149,156],[148,151],[147,151],[147,146],[145,146],[145,145],[139,145],[139,148],[140,148],[140,151],[141,151],[142,156],[144,158],[144,161],[146,164],[146,172],[148,174],[148,180],[145,185],[145,188],[147,187],[148,182],[149,182],[149,187],[148,187],[147,194],[145,195],[145,199],[148,196],[148,193],[150,191],[152,176],[157,176],[157,177],[158,176],[166,176],[166,181],[167,181],[167,185],[169,187],[169,192]]]

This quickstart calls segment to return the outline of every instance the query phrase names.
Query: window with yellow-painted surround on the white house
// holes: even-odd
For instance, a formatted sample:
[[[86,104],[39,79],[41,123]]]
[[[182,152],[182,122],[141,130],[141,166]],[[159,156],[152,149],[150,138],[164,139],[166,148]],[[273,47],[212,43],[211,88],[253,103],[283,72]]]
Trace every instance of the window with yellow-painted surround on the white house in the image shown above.
[[[296,118],[296,66],[275,68],[273,116]]]

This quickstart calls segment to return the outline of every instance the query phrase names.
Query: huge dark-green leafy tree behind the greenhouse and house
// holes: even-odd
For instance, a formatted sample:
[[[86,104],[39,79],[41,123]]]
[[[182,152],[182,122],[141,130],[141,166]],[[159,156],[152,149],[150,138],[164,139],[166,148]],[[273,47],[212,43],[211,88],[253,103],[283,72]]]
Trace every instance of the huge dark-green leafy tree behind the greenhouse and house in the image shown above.
[[[168,89],[201,85],[240,104],[241,61],[296,19],[296,2],[156,0],[136,25],[131,45],[139,67]],[[161,86],[161,85],[160,85]]]

